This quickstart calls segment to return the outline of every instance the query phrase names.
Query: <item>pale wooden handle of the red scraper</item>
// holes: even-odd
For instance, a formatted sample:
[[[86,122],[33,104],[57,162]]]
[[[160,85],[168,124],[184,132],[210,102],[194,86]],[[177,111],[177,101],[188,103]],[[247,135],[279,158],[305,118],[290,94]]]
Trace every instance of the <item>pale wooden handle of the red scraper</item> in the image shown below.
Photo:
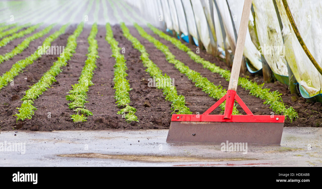
[[[244,8],[242,9],[242,19],[241,19],[241,24],[239,26],[239,31],[238,31],[236,50],[234,54],[234,61],[232,62],[232,72],[230,75],[228,90],[234,90],[234,91],[237,90],[237,84],[238,84],[239,72],[241,70],[241,65],[242,65],[242,55],[244,52],[250,12],[251,12],[251,0],[245,0]]]

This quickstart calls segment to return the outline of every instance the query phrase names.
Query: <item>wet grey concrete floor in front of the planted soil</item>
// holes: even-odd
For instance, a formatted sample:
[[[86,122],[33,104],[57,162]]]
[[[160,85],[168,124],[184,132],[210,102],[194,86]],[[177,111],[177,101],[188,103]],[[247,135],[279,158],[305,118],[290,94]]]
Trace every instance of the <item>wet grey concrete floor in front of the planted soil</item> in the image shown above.
[[[166,143],[167,133],[5,131],[0,166],[322,166],[322,128],[285,127],[280,146],[248,144],[239,151]]]

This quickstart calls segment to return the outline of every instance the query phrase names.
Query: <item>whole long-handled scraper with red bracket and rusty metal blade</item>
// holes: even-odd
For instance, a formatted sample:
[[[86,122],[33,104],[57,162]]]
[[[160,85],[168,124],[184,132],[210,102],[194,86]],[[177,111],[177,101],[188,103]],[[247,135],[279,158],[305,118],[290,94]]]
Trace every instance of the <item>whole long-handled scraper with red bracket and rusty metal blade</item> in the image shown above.
[[[203,114],[172,114],[166,142],[280,144],[285,115],[254,115],[236,94],[250,10],[245,0],[227,94]],[[232,115],[235,100],[247,115]],[[210,114],[224,101],[223,115]]]

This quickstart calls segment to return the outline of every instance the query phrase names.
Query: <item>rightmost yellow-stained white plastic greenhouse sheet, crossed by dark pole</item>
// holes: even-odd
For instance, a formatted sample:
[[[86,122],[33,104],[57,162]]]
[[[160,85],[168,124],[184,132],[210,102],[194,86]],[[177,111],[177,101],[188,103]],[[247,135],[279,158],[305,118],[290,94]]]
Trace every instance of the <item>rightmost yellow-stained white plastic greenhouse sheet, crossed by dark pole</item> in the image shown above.
[[[319,65],[321,65],[322,1],[288,0],[288,4],[304,43]],[[307,91],[308,96],[317,95],[320,93],[322,76],[299,44],[282,1],[277,0],[277,5],[283,23],[282,35],[284,36],[286,60],[299,85]]]

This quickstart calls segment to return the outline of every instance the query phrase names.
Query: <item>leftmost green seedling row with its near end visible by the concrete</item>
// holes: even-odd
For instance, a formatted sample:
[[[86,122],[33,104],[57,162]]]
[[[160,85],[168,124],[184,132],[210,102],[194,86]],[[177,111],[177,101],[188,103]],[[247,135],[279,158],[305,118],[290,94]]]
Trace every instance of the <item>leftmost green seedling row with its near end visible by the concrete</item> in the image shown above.
[[[23,103],[20,108],[17,108],[19,114],[14,115],[17,116],[17,122],[18,120],[24,121],[25,119],[32,118],[34,111],[37,110],[37,108],[33,106],[33,101],[39,98],[47,88],[50,88],[52,83],[56,81],[56,75],[62,72],[61,67],[67,65],[67,61],[70,60],[73,53],[75,53],[75,49],[77,47],[76,39],[81,34],[83,27],[83,22],[77,26],[74,33],[67,39],[66,47],[63,50],[64,56],[58,57],[58,60],[53,63],[46,73],[43,74],[40,80],[25,92],[24,97],[21,99]]]

